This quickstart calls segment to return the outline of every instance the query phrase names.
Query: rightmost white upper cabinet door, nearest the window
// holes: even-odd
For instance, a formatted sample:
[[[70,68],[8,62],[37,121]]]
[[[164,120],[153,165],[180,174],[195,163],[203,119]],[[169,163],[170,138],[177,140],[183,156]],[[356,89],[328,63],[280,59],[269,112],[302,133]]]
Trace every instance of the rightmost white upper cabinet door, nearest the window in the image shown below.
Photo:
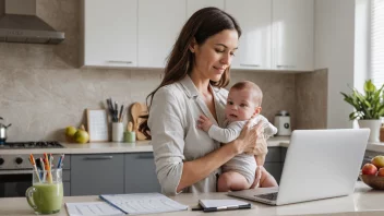
[[[313,71],[313,0],[273,0],[274,70]]]

